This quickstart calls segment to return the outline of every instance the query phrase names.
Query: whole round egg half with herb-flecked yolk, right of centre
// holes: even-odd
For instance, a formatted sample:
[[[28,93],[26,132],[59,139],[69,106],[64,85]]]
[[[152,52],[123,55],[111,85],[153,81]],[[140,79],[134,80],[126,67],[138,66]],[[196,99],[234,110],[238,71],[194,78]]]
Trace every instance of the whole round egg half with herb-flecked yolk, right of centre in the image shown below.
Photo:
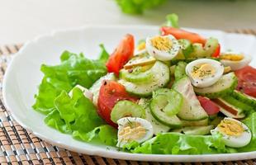
[[[210,87],[224,72],[223,65],[214,59],[197,59],[187,64],[186,73],[194,87]]]

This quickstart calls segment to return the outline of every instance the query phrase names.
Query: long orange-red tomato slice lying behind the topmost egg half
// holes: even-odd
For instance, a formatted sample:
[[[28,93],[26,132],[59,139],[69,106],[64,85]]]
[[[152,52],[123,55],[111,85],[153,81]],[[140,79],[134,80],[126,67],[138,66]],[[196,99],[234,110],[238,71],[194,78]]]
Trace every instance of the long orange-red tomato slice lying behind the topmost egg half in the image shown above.
[[[177,40],[186,39],[190,40],[192,43],[201,43],[202,45],[206,44],[206,39],[197,33],[168,26],[161,27],[160,31],[162,32],[162,35],[173,35]]]

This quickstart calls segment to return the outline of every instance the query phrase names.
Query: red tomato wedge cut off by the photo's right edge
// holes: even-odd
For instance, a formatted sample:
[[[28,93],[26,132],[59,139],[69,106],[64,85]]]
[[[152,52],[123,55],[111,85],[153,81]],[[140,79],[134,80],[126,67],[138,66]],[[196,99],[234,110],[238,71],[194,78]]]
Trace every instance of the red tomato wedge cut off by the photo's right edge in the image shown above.
[[[256,97],[256,69],[251,66],[246,66],[235,71],[238,78],[237,90],[245,94]]]

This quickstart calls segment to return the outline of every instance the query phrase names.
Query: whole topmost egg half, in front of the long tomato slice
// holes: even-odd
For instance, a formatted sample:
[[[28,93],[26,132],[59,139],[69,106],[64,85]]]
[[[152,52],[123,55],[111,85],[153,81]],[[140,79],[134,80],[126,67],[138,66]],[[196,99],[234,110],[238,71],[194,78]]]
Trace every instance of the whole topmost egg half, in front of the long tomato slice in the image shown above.
[[[155,59],[168,61],[178,54],[180,45],[173,35],[156,35],[146,39],[145,48]]]

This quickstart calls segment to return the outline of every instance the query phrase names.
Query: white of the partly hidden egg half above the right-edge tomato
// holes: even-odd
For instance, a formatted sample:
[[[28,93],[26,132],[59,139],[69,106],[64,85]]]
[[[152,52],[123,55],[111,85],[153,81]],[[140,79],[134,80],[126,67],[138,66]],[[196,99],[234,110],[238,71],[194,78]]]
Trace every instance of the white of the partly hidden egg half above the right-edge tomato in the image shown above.
[[[239,61],[232,61],[228,59],[221,59],[220,63],[224,64],[225,67],[230,66],[231,70],[235,71],[240,68],[244,68],[252,61],[252,57],[249,55],[244,55],[244,59]]]

